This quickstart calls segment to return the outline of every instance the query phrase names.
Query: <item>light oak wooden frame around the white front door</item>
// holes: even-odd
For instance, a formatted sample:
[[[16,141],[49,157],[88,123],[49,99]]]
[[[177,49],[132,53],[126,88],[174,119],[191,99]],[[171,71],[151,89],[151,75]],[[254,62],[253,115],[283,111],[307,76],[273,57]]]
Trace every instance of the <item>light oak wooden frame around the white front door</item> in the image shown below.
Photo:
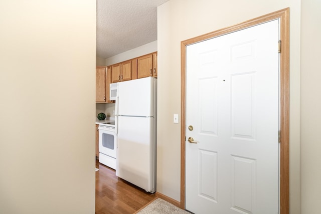
[[[280,214],[289,213],[289,8],[281,9],[242,23],[219,29],[181,42],[181,201],[185,209],[185,141],[186,141],[186,46],[205,39],[224,35],[266,21],[280,18]]]

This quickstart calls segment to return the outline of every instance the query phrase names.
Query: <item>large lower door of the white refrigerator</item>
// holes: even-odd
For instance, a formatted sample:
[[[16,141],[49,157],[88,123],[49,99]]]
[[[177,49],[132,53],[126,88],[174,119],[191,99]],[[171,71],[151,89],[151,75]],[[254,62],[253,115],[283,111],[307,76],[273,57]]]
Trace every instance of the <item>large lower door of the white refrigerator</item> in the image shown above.
[[[149,192],[156,190],[152,117],[118,116],[116,175]]]

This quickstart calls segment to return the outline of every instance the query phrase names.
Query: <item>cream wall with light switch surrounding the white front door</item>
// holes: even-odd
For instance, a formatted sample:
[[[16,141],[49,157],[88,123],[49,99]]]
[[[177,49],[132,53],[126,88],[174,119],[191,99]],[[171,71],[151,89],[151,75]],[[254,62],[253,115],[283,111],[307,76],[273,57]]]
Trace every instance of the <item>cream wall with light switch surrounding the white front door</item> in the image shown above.
[[[157,9],[157,192],[180,201],[181,41],[290,7],[290,213],[299,213],[300,0],[170,0]],[[161,115],[161,116],[159,116]],[[181,121],[179,121],[181,122]]]

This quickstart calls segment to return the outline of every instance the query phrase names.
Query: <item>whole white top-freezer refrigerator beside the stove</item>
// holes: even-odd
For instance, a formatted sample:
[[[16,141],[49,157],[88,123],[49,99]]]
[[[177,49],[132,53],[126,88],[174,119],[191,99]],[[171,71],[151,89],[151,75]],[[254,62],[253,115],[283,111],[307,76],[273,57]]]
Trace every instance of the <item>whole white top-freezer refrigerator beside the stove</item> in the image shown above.
[[[116,175],[148,192],[156,191],[157,79],[118,82]]]

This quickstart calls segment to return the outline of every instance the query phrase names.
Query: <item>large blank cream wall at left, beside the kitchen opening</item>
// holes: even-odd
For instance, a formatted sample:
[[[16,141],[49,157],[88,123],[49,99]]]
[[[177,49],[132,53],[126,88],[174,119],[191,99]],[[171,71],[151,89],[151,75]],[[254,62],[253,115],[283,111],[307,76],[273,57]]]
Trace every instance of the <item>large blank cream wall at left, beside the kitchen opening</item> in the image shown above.
[[[0,1],[0,213],[95,212],[96,1]]]

